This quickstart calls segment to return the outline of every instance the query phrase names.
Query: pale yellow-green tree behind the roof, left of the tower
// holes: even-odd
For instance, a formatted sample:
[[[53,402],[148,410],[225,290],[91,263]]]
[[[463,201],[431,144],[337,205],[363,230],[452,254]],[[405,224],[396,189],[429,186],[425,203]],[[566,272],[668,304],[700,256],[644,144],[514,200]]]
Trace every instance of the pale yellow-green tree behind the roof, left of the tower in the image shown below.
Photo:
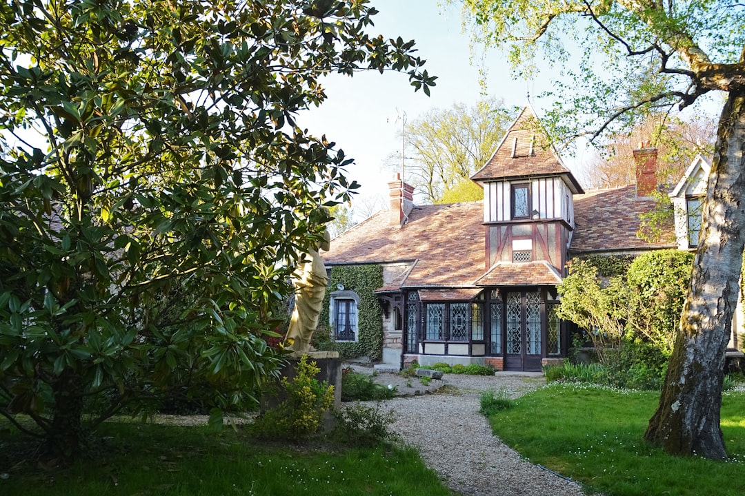
[[[407,181],[432,203],[458,187],[497,149],[511,114],[502,100],[487,98],[474,106],[456,103],[432,109],[405,126]]]

